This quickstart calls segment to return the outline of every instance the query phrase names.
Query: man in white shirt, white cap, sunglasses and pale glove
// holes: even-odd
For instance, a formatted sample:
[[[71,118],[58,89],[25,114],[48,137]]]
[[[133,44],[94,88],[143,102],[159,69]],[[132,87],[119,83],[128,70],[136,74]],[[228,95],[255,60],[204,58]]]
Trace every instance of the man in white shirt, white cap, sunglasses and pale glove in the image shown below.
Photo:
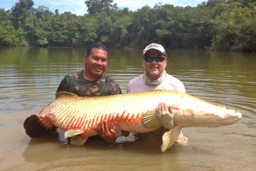
[[[142,66],[145,72],[129,81],[127,93],[135,93],[145,90],[175,90],[186,93],[183,83],[166,73],[166,57],[167,55],[162,45],[156,43],[148,45],[143,50],[142,58]],[[158,105],[157,116],[162,122],[165,130],[170,130],[175,127],[175,124],[173,124],[173,114],[169,112],[165,103],[160,103]],[[157,132],[160,132],[161,130],[157,130]],[[185,143],[187,142],[187,138],[180,132],[176,142]]]

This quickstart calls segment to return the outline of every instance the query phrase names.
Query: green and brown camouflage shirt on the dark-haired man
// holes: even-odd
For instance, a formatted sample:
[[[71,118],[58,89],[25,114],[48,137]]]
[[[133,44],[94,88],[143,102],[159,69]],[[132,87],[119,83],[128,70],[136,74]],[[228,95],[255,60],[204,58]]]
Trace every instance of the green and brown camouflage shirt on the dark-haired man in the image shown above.
[[[88,81],[84,79],[83,71],[66,75],[57,89],[57,92],[60,91],[75,93],[78,96],[107,96],[122,93],[119,85],[109,76],[103,75],[96,81]]]

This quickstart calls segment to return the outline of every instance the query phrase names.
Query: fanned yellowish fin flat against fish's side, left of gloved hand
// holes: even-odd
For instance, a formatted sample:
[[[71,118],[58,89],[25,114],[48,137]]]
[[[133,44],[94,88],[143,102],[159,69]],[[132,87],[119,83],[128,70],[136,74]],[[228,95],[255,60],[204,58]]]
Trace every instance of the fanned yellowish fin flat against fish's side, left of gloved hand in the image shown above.
[[[157,110],[148,110],[142,118],[142,124],[145,128],[154,128],[161,126],[162,123],[157,117]]]

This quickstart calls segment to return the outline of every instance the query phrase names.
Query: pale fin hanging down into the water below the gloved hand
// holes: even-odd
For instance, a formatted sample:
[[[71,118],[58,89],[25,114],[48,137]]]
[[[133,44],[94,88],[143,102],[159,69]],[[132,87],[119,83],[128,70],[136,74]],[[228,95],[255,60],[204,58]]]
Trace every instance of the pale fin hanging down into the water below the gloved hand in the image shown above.
[[[168,148],[170,148],[175,141],[177,140],[178,136],[180,135],[182,127],[175,126],[171,130],[168,130],[163,134],[163,144],[161,146],[161,150],[165,152]]]

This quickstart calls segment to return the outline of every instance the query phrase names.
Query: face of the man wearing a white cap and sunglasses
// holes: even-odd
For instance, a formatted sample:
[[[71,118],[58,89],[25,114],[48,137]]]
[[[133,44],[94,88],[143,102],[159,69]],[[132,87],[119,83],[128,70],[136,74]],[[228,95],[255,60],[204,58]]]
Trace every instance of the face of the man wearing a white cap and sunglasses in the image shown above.
[[[161,56],[165,58],[165,55],[155,49],[148,50],[144,56],[151,56],[153,58]],[[161,77],[164,69],[166,68],[166,64],[166,59],[163,62],[158,63],[155,60],[153,60],[152,62],[146,62],[144,59],[142,60],[142,67],[144,68],[148,78],[151,80],[156,80]]]

